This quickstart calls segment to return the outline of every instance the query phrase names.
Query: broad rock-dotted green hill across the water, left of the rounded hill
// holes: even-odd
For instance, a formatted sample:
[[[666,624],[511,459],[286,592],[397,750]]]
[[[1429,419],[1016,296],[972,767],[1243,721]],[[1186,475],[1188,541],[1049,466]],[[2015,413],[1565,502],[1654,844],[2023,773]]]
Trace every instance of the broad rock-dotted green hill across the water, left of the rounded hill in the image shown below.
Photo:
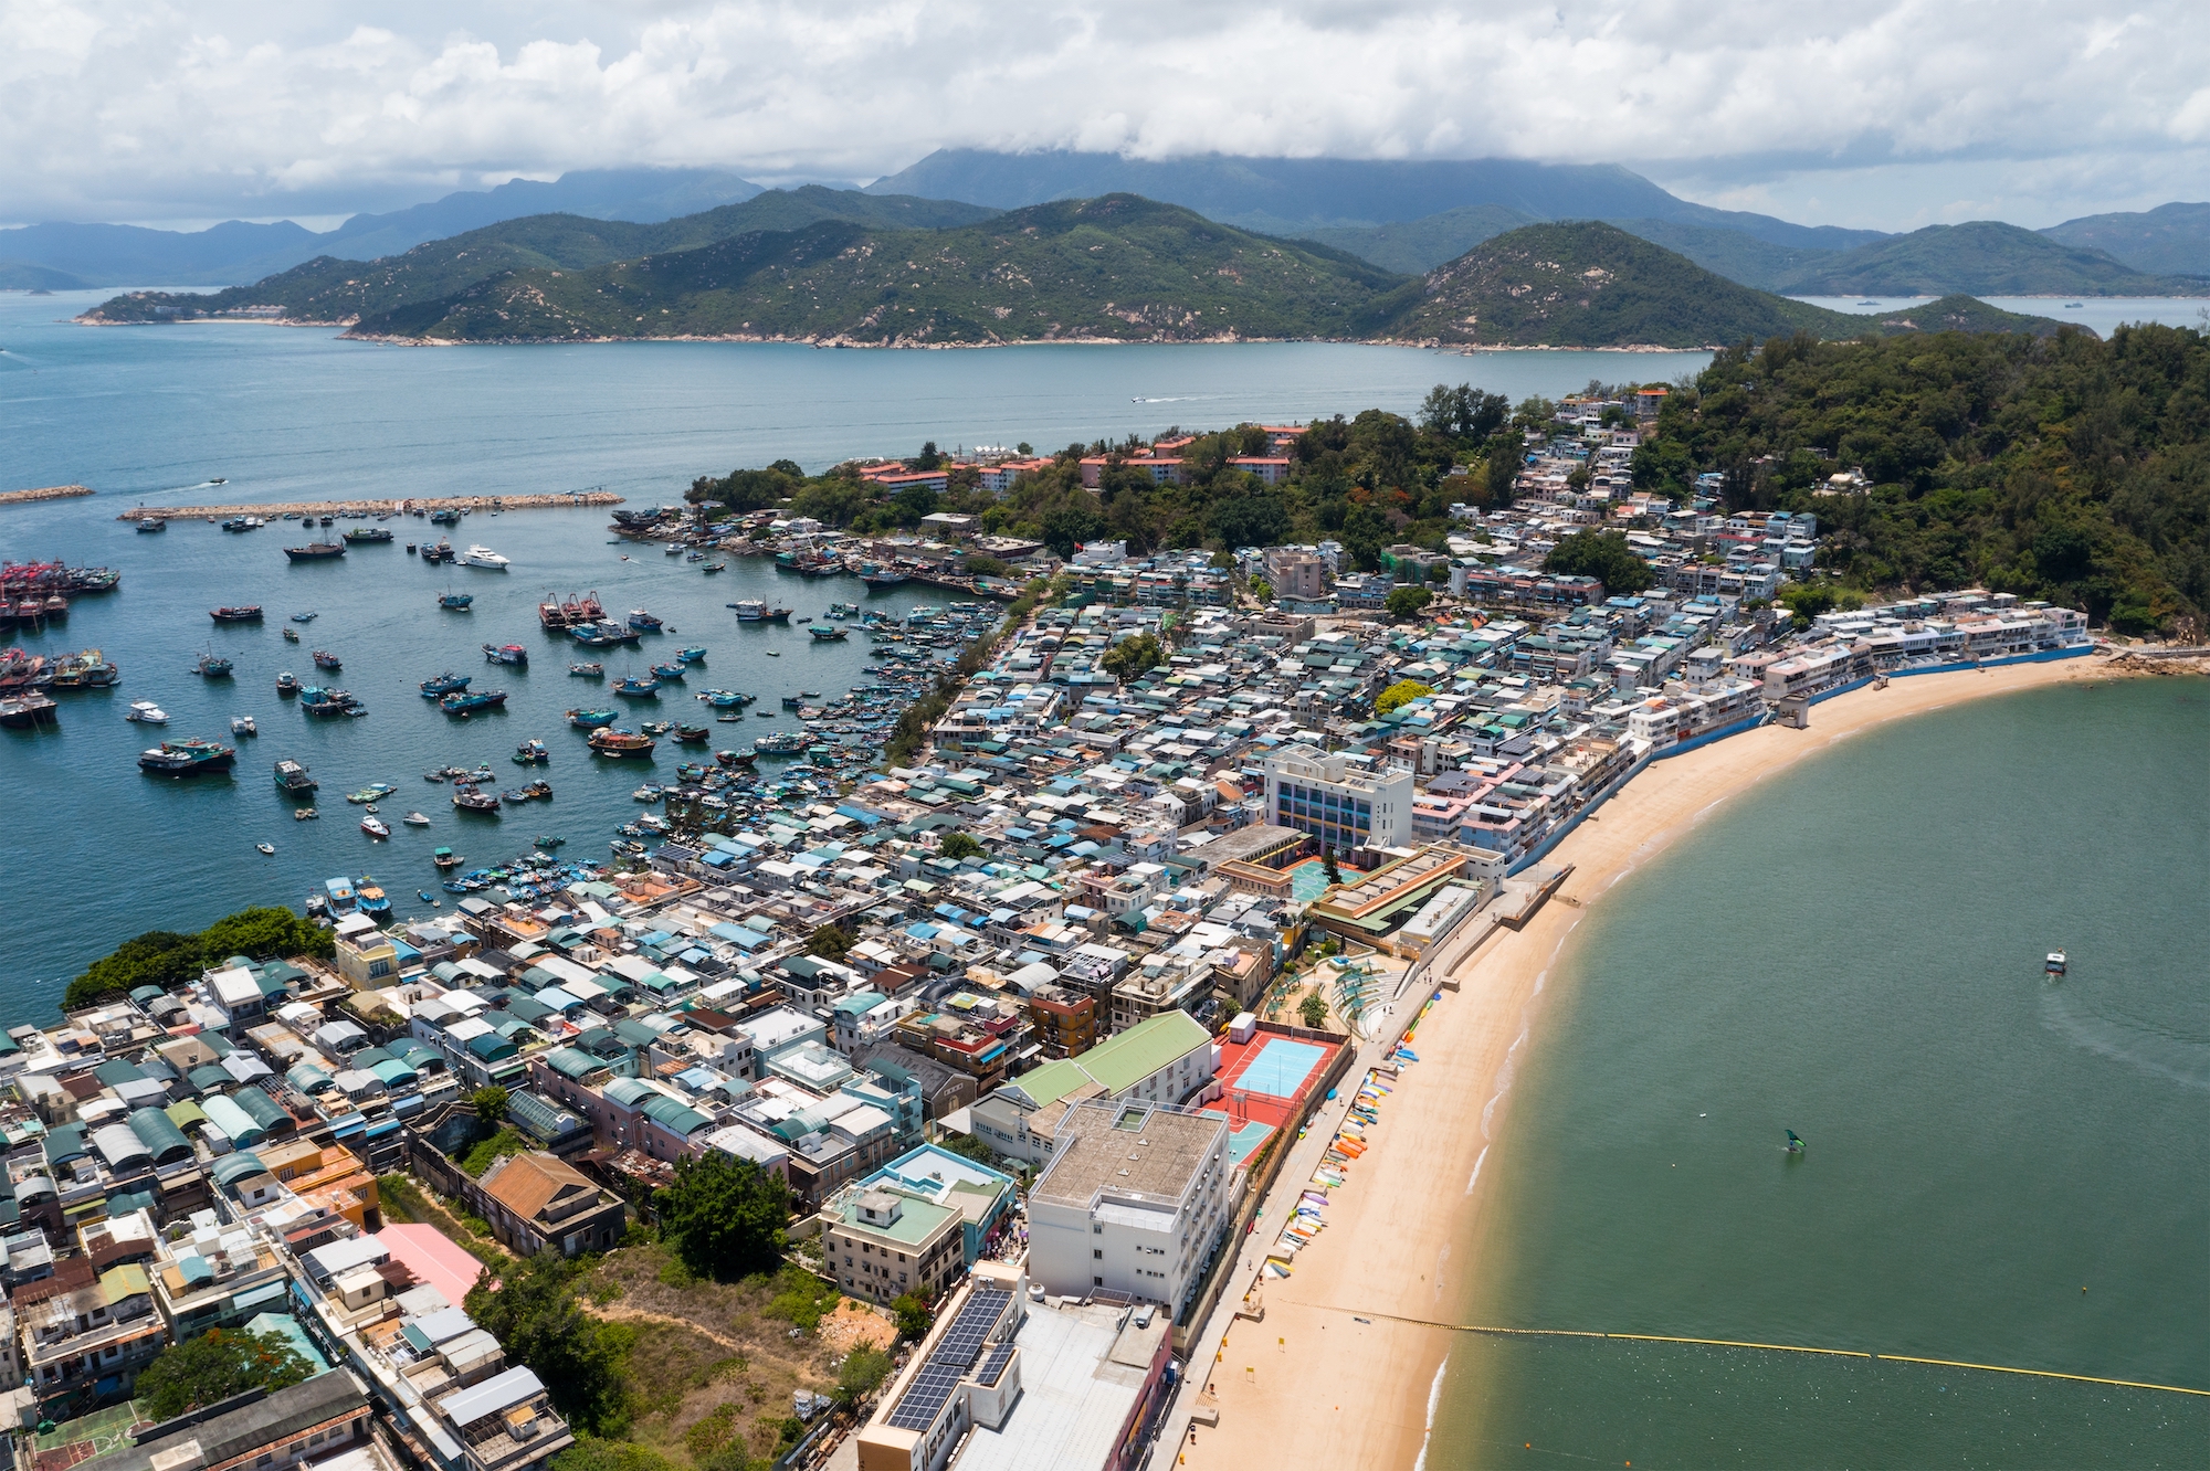
[[[822,221],[590,269],[504,269],[438,300],[362,316],[351,336],[908,347],[1357,338],[1414,292],[1417,283],[1324,245],[1107,194],[955,230]]]

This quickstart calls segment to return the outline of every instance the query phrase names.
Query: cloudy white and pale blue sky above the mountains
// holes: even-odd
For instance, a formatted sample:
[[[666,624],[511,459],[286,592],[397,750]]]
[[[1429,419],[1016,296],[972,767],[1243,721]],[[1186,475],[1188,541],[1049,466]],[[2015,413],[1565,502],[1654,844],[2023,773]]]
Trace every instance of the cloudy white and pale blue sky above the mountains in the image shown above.
[[[0,0],[0,223],[336,223],[939,146],[1624,163],[1803,223],[2210,199],[2210,7]]]

